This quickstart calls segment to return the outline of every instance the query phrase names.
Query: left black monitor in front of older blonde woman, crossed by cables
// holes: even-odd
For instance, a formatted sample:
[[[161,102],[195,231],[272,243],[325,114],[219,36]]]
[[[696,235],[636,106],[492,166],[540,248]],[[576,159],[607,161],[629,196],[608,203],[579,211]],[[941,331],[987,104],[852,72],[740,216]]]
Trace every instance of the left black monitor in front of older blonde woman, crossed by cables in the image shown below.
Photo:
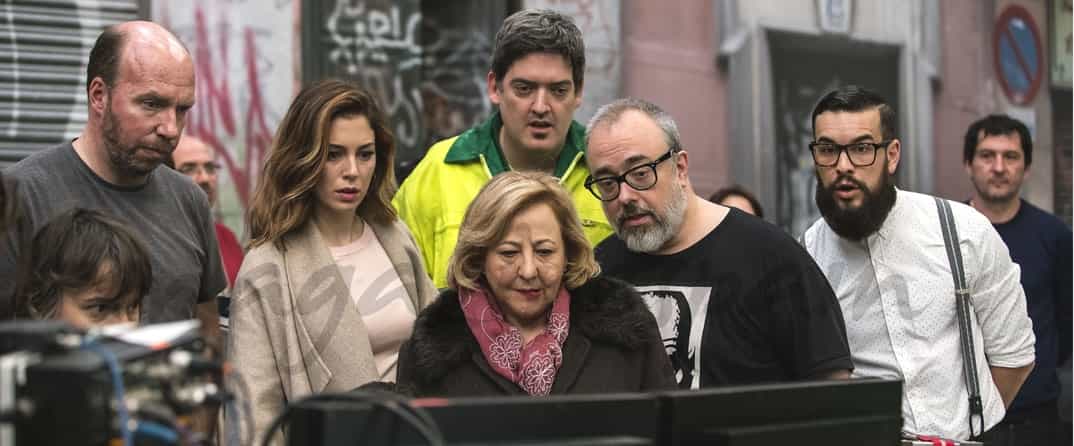
[[[448,445],[658,445],[659,401],[620,393],[418,399]],[[288,416],[290,445],[423,445],[400,417],[359,400],[303,401]]]

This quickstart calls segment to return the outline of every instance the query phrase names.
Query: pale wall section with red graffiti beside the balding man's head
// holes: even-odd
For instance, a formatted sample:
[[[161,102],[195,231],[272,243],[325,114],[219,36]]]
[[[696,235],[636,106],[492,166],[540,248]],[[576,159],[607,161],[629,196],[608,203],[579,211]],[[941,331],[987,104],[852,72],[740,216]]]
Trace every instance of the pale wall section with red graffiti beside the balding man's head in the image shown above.
[[[198,82],[185,134],[204,140],[216,153],[223,167],[218,212],[240,232],[293,91],[292,4],[198,0],[170,5],[154,2],[153,16],[187,45]]]

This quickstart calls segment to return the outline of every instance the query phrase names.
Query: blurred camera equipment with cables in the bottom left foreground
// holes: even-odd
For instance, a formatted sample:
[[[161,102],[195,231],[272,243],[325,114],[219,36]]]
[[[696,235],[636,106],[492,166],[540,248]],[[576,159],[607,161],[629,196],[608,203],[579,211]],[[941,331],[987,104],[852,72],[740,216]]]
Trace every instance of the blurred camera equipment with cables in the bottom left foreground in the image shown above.
[[[194,409],[223,398],[194,321],[85,333],[58,321],[0,323],[0,446],[170,445]],[[107,330],[106,330],[107,332]]]

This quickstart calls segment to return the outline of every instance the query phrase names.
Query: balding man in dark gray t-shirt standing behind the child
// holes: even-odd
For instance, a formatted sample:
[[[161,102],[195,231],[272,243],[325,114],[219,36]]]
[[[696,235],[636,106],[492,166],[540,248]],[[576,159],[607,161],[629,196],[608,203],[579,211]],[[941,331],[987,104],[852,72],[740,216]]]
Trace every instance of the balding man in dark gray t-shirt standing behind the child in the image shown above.
[[[217,293],[227,282],[208,201],[178,172],[158,167],[172,155],[194,102],[190,54],[148,21],[105,29],[87,67],[88,120],[74,141],[19,161],[25,230],[35,232],[72,207],[105,212],[148,248],[153,286],[142,301],[146,323],[199,318],[217,344]],[[10,304],[15,258],[26,234],[8,231],[0,256],[0,302]]]

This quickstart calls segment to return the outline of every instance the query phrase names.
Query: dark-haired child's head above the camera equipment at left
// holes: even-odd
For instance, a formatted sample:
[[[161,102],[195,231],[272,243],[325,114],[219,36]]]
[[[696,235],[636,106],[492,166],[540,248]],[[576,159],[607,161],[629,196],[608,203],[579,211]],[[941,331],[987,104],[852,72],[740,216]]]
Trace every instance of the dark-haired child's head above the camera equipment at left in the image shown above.
[[[121,222],[74,208],[41,228],[23,251],[17,316],[75,327],[137,321],[153,283],[143,244]]]

